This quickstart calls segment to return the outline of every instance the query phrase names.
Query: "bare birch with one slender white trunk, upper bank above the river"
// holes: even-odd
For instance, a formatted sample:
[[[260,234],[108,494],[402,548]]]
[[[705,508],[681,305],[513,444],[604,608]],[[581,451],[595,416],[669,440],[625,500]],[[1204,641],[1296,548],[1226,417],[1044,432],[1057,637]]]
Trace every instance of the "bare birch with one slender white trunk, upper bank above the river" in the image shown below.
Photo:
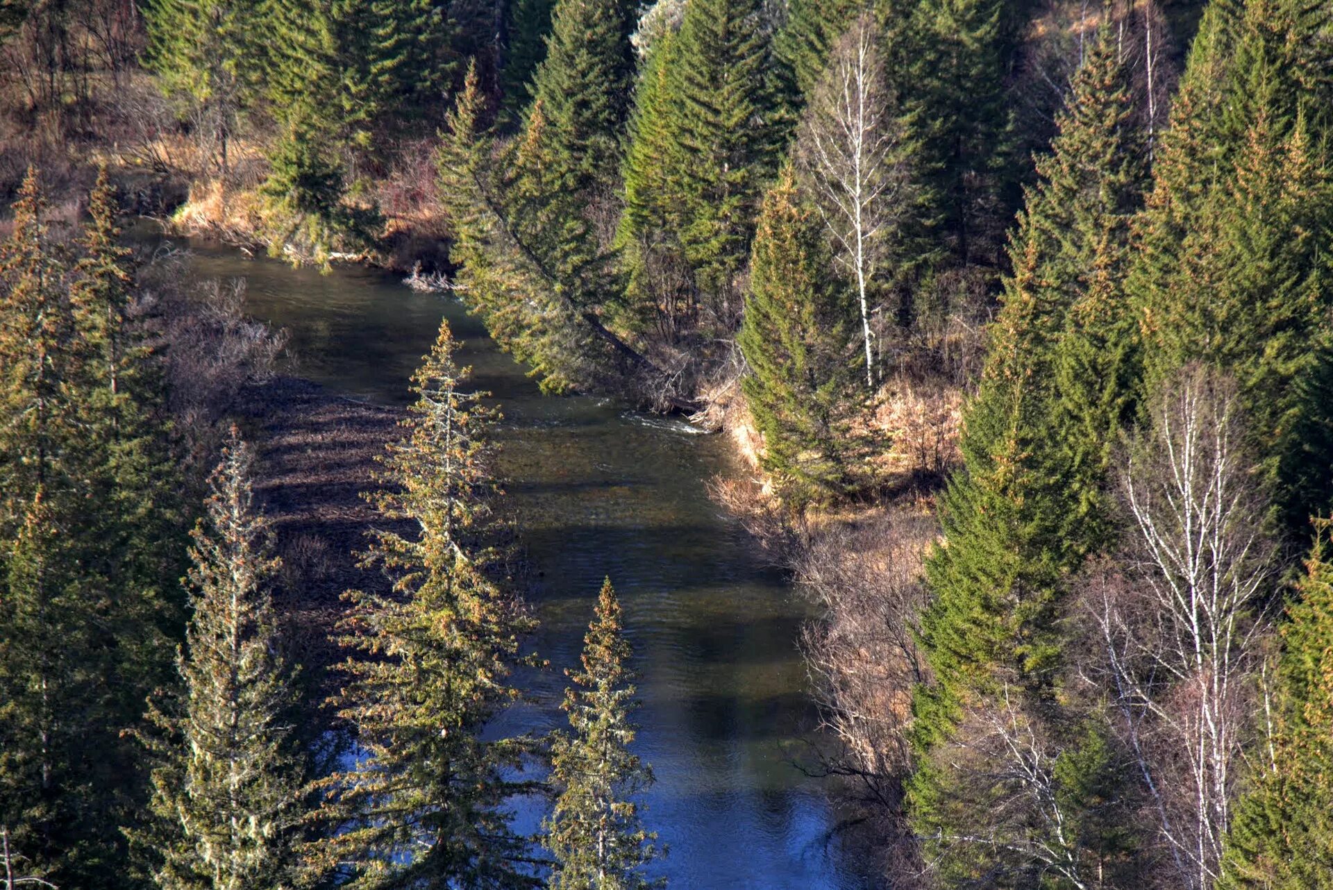
[[[833,48],[810,97],[797,163],[812,183],[838,261],[856,281],[865,340],[865,382],[874,386],[868,289],[913,204],[902,128],[890,108],[877,27],[860,16]]]

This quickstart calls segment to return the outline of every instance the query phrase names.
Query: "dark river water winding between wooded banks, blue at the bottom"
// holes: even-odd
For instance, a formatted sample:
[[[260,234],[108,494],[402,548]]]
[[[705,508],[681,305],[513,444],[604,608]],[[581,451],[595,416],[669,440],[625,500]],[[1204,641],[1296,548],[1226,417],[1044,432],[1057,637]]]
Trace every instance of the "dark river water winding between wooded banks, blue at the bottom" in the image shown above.
[[[563,725],[560,668],[577,664],[609,576],[640,675],[636,751],[657,779],[645,821],[669,847],[652,871],[690,890],[854,886],[825,789],[793,765],[813,725],[797,652],[806,608],[705,492],[713,476],[741,472],[728,442],[612,400],[540,396],[452,297],[367,269],[321,276],[192,246],[193,270],[244,278],[247,310],[291,332],[295,373],[332,392],[407,404],[440,318],[465,341],[461,361],[504,413],[501,470],[537,573],[533,645],[555,666],[500,730]],[[533,829],[535,807],[520,810]]]

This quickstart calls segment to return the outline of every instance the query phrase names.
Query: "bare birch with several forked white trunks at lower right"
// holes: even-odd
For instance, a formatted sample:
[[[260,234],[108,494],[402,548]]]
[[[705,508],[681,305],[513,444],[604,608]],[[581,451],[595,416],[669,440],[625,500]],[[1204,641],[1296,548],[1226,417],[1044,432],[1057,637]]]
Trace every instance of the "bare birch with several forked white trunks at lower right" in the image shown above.
[[[1237,410],[1234,386],[1206,369],[1164,388],[1121,478],[1125,552],[1084,597],[1102,650],[1096,673],[1170,863],[1162,886],[1190,890],[1218,874],[1253,731],[1257,609],[1280,568]]]

